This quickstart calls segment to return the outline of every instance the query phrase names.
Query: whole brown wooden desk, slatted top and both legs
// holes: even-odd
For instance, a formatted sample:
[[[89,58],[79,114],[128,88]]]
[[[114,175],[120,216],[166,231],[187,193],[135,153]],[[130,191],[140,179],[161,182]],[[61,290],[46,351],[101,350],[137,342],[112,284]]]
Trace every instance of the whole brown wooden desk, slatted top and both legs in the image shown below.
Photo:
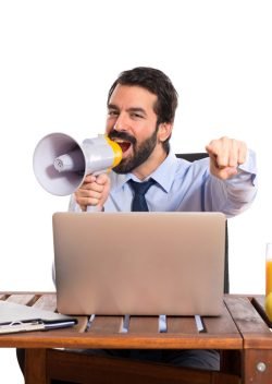
[[[0,300],[55,310],[53,292],[0,292]],[[157,316],[131,316],[128,332],[123,333],[122,316],[95,316],[88,329],[88,317],[82,316],[72,328],[1,335],[0,347],[27,348],[27,384],[46,383],[45,359],[51,348],[220,349],[223,371],[236,372],[244,384],[269,384],[272,383],[272,333],[256,310],[256,300],[261,302],[263,298],[225,296],[223,315],[202,317],[201,333],[194,317],[168,316],[166,332],[159,333]]]

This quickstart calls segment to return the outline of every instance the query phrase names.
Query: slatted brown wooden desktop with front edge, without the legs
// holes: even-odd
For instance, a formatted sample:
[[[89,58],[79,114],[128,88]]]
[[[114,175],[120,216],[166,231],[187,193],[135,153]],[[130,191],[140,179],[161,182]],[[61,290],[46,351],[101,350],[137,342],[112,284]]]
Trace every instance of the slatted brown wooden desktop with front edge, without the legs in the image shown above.
[[[55,311],[54,292],[0,292],[0,300]],[[222,316],[201,317],[203,332],[186,316],[166,316],[164,332],[158,316],[131,316],[127,332],[124,316],[95,316],[89,325],[81,316],[72,328],[1,335],[0,347],[272,349],[272,333],[256,309],[262,300],[226,295]]]

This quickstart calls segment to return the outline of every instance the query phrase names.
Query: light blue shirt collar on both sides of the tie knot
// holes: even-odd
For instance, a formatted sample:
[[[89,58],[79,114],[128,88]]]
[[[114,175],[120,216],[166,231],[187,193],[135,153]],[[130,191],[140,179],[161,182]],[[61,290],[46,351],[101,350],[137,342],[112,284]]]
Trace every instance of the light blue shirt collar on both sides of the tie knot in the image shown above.
[[[162,161],[162,164],[151,173],[149,178],[152,178],[159,185],[161,185],[165,192],[169,192],[174,181],[174,177],[177,169],[177,158],[175,154],[170,149],[169,155]],[[133,173],[118,175],[114,171],[110,173],[112,190],[118,191],[131,179],[139,181]]]

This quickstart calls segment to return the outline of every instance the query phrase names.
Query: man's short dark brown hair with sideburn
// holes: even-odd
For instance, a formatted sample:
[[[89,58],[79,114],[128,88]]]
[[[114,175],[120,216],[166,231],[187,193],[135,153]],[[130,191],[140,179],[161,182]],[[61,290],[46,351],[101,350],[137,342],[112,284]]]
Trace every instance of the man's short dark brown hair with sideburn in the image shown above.
[[[171,80],[160,70],[149,67],[137,67],[122,72],[112,84],[108,94],[108,104],[116,85],[137,85],[148,89],[157,96],[153,110],[158,116],[157,128],[160,123],[173,123],[177,107],[177,92]],[[163,142],[163,147],[169,152],[169,140]]]

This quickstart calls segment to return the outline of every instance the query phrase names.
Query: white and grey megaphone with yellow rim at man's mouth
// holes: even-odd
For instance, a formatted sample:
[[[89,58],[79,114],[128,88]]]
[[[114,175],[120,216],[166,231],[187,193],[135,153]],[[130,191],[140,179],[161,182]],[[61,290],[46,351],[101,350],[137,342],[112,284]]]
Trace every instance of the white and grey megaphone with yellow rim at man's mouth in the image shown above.
[[[46,191],[65,196],[75,192],[87,175],[107,172],[121,159],[120,145],[106,135],[86,139],[79,145],[70,135],[57,132],[38,142],[33,168]]]

